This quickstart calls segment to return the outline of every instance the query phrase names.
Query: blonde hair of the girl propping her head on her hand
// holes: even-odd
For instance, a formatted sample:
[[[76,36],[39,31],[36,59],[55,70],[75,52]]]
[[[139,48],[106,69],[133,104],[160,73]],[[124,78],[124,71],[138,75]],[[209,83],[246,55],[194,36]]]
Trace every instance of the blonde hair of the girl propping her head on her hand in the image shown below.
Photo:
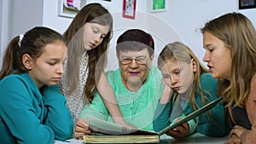
[[[195,101],[195,93],[201,95],[201,102],[203,105],[206,105],[206,98],[203,95],[203,92],[205,91],[201,88],[200,77],[202,73],[207,72],[207,68],[201,64],[200,60],[198,60],[192,50],[180,42],[168,43],[160,52],[158,58],[158,67],[161,68],[164,66],[165,62],[168,60],[183,61],[185,63],[191,64],[192,59],[195,60],[196,72],[194,72],[193,86],[189,96],[189,101],[191,107],[193,107],[195,110],[199,108]],[[199,91],[196,90],[196,86],[198,87]]]

